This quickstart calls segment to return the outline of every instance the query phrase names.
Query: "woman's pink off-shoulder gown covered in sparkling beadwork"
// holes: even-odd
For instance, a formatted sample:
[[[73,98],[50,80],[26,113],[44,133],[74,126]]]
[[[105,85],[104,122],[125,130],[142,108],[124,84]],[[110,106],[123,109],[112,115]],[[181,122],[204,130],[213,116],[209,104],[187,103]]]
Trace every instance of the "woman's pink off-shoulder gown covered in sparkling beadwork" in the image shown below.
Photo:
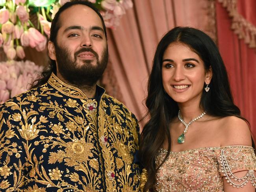
[[[156,157],[159,166],[167,150],[160,149]],[[238,178],[234,173],[247,170]],[[256,187],[256,157],[249,146],[198,148],[171,152],[156,175],[158,192],[224,192],[223,182],[234,188]]]

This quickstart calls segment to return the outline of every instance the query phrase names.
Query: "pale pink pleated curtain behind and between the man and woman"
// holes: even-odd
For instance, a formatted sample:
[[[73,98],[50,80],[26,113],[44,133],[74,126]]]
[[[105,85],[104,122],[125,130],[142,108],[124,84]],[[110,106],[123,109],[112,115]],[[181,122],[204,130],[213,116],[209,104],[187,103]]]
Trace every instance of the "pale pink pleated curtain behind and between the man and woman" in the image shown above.
[[[193,26],[215,38],[213,0],[134,0],[120,26],[108,30],[109,66],[102,79],[107,92],[140,120],[154,52],[175,26]],[[142,122],[143,124],[143,122]]]

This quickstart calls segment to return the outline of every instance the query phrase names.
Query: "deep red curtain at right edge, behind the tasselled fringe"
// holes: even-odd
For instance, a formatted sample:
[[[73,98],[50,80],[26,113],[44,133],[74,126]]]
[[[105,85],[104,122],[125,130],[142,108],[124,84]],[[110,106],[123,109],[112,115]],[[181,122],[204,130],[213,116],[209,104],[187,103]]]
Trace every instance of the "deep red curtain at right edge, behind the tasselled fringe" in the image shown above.
[[[256,26],[256,1],[238,0],[236,3],[239,14]],[[241,109],[242,115],[249,120],[255,140],[256,49],[249,48],[245,39],[239,39],[239,34],[234,33],[231,29],[232,18],[223,4],[217,1],[216,16],[219,50],[228,70],[234,102]]]

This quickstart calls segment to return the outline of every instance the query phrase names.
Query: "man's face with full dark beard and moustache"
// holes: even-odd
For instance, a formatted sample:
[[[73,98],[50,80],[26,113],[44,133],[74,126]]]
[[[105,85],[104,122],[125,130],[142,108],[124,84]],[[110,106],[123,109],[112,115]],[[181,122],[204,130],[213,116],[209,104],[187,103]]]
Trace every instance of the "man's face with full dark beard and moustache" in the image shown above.
[[[71,6],[59,17],[57,45],[49,43],[50,58],[56,61],[57,76],[75,85],[92,86],[108,62],[108,48],[97,13],[84,5]]]

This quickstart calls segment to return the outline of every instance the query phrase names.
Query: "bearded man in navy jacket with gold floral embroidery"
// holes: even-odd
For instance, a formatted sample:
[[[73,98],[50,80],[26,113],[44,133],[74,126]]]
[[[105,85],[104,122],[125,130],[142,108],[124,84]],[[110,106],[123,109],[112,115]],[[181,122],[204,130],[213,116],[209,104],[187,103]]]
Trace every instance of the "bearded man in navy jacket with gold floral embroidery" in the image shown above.
[[[40,86],[0,107],[0,191],[138,191],[137,120],[96,85],[108,62],[100,13],[64,4],[48,51]]]

